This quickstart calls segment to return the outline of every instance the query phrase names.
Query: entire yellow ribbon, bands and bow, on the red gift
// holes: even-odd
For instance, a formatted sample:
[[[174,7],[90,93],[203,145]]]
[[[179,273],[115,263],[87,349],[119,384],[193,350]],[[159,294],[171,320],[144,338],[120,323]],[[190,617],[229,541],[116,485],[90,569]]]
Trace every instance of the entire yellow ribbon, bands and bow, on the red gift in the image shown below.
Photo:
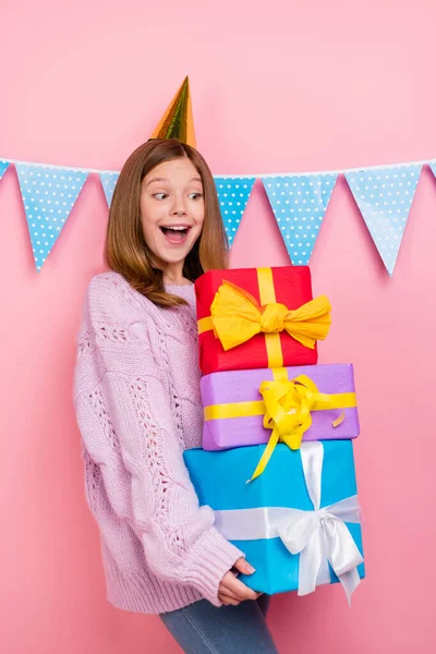
[[[328,334],[331,306],[325,295],[289,310],[276,302],[271,268],[257,268],[261,304],[244,289],[225,280],[215,294],[210,316],[198,320],[198,334],[214,330],[227,352],[257,334],[265,334],[268,367],[281,367],[280,332],[312,350]]]

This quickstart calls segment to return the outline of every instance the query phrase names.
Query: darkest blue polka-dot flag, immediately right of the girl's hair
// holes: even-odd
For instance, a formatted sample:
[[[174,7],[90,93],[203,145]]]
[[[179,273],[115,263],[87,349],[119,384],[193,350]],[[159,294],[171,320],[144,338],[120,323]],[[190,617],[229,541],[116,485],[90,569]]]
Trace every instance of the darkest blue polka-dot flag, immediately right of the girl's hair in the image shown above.
[[[214,179],[222,221],[231,246],[256,178],[215,177]]]

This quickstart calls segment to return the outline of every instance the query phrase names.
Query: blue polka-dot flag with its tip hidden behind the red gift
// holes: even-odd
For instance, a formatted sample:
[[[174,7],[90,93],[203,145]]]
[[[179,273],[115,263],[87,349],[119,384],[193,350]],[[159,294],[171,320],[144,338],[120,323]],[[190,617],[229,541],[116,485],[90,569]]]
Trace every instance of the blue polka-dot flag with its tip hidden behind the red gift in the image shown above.
[[[294,265],[306,266],[311,258],[337,178],[337,173],[316,173],[262,180]]]

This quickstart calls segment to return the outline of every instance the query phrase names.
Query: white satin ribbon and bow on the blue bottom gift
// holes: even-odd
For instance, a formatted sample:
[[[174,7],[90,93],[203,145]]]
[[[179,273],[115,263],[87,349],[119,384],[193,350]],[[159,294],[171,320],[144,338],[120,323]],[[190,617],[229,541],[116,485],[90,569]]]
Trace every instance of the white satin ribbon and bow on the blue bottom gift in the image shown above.
[[[361,522],[358,496],[320,508],[324,446],[320,441],[303,443],[300,452],[313,510],[284,507],[221,510],[215,511],[215,525],[229,541],[280,537],[291,554],[300,555],[299,595],[329,583],[330,564],[350,604],[361,581],[358,566],[363,562],[346,525],[346,522]]]

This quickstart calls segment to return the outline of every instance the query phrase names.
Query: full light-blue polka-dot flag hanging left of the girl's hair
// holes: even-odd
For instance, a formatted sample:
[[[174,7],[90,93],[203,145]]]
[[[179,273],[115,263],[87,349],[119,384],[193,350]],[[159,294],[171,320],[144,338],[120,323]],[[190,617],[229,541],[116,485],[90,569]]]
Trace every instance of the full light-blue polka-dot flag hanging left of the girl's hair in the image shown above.
[[[16,164],[36,269],[58,240],[88,175],[38,164]]]

